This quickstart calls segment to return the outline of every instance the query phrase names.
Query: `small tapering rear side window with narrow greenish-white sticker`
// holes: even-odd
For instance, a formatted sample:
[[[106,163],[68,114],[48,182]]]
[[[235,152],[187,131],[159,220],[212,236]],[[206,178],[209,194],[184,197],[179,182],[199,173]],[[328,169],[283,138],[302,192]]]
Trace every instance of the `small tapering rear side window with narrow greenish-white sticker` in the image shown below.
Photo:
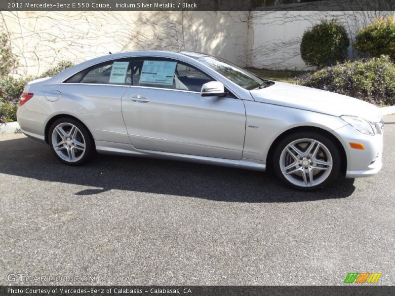
[[[130,85],[131,63],[125,59],[101,63],[73,75],[65,82]]]

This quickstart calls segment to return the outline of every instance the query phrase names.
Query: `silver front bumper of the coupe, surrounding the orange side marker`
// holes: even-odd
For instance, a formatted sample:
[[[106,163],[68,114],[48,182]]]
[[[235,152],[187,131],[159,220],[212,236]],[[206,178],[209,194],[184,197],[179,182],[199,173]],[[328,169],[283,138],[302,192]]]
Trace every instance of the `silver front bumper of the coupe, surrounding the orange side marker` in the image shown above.
[[[365,135],[351,125],[333,131],[342,143],[347,156],[346,178],[369,177],[383,166],[383,134]],[[362,143],[363,150],[350,147],[350,143]]]

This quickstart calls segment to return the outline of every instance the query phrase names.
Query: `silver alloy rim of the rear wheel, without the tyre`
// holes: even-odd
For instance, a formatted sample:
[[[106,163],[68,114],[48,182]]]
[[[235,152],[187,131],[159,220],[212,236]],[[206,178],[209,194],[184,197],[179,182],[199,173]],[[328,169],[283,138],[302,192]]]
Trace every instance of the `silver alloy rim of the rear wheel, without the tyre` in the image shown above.
[[[60,123],[52,132],[52,147],[67,162],[79,161],[85,154],[85,139],[77,126]]]

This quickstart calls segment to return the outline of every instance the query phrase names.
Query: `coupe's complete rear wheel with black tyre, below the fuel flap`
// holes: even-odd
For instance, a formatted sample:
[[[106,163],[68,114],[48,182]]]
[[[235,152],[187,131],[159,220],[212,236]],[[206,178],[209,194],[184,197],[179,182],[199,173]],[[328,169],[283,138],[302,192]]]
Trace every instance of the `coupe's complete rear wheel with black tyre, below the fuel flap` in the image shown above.
[[[77,120],[60,118],[49,128],[48,142],[53,154],[68,165],[79,165],[92,154],[93,143],[89,131]]]

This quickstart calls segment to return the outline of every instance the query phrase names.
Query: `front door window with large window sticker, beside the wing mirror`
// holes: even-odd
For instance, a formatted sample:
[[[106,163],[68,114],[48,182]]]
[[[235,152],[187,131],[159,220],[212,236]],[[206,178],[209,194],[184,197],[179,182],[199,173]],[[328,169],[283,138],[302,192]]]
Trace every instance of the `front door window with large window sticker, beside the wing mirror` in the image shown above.
[[[199,92],[213,81],[200,70],[174,60],[136,59],[133,62],[133,85]]]

